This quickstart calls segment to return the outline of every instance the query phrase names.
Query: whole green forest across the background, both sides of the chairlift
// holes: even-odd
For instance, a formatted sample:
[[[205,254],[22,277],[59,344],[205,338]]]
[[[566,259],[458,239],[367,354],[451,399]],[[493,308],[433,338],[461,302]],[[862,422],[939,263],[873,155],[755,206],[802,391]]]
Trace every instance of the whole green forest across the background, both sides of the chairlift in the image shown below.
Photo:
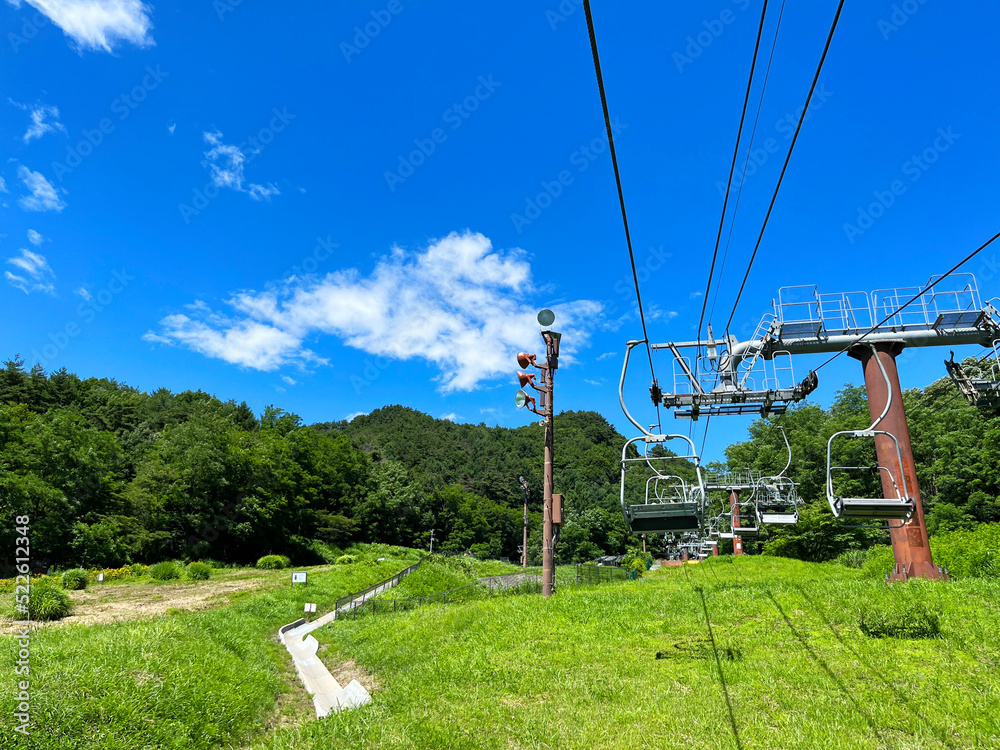
[[[1000,418],[955,393],[944,379],[904,394],[932,534],[1000,521]],[[885,541],[884,532],[838,524],[823,494],[827,437],[867,426],[864,391],[848,386],[828,410],[804,404],[777,419],[807,504],[797,526],[769,529],[748,549],[823,560]],[[625,438],[595,412],[563,412],[556,425],[555,486],[567,501],[557,558],[624,551],[634,543],[618,504]],[[772,423],[758,420],[750,432],[727,449],[729,466],[781,469]],[[145,393],[26,370],[16,357],[0,371],[0,510],[30,515],[40,566],[245,563],[272,552],[307,564],[353,541],[426,546],[432,529],[436,549],[516,559],[520,476],[531,487],[536,557],[541,447],[534,423],[455,424],[388,406],[307,426],[273,406],[256,416],[200,391]],[[862,462],[871,451],[850,449]],[[11,525],[0,531],[5,548],[14,538]]]

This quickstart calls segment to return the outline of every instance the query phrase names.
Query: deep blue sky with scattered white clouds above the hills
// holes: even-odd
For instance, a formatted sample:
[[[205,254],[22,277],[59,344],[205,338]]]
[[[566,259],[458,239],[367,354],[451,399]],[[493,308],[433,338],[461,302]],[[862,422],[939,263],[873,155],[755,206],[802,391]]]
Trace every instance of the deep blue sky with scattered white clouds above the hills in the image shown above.
[[[836,6],[784,9],[716,330]],[[594,2],[655,341],[695,335],[760,8]],[[516,426],[513,354],[551,307],[557,409],[631,434],[642,334],[580,3],[6,0],[0,23],[5,356],[310,422],[403,403]],[[920,285],[997,231],[998,25],[988,0],[846,4],[733,333],[779,287]],[[984,298],[998,269],[968,269]],[[908,357],[904,386],[945,356]],[[846,381],[844,357],[813,398]],[[748,420],[714,422],[708,459]]]

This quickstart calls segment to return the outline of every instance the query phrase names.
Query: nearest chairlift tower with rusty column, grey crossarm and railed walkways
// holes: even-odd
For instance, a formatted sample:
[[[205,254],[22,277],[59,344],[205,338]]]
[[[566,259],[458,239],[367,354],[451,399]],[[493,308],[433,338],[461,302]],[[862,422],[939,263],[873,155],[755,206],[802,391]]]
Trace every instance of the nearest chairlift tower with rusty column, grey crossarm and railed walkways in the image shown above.
[[[928,288],[931,284],[934,287]],[[896,358],[906,347],[994,346],[1000,339],[1000,303],[981,300],[972,274],[953,274],[932,277],[925,287],[871,293],[783,287],[773,308],[747,341],[728,333],[716,341],[709,329],[707,347],[701,341],[652,344],[654,350],[673,354],[675,376],[672,393],[662,393],[656,385],[650,389],[653,403],[674,407],[675,418],[780,414],[817,385],[813,372],[795,382],[793,356],[847,351],[861,362],[873,419],[872,428],[854,431],[853,436],[874,439],[884,500],[851,501],[853,508],[843,515],[900,521],[889,529],[896,562],[891,580],[941,578],[928,544]],[[628,353],[641,343],[628,343],[626,367]],[[685,348],[696,348],[696,355],[684,356]],[[623,383],[624,377],[623,371]],[[625,415],[637,424],[627,409]],[[880,429],[874,429],[876,425]],[[828,466],[828,477],[830,470]],[[833,497],[832,488],[828,496]],[[738,502],[731,497],[731,503]],[[736,523],[734,515],[734,529]]]

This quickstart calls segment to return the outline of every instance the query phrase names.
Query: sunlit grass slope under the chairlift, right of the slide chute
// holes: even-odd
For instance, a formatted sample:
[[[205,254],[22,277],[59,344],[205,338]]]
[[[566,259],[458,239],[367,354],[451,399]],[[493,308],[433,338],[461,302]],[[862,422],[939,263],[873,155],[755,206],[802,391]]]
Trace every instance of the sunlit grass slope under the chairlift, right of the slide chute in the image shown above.
[[[861,610],[914,600],[940,637],[860,632]],[[998,602],[995,580],[890,588],[718,558],[549,601],[343,621],[315,635],[375,674],[373,704],[255,747],[1000,747]]]

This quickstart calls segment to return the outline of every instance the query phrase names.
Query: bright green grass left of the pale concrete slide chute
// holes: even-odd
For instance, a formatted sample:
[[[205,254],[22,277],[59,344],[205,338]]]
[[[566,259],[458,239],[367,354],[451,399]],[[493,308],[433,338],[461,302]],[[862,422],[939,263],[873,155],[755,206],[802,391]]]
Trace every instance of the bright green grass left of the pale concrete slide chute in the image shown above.
[[[0,662],[9,666],[0,696],[0,747],[242,747],[263,733],[279,698],[292,700],[302,692],[289,674],[277,629],[302,617],[305,602],[316,602],[317,612],[326,612],[338,597],[384,580],[416,559],[415,551],[373,545],[355,565],[307,569],[305,587],[286,583],[264,594],[235,595],[243,601],[224,608],[109,625],[46,627],[31,635],[27,677],[15,677],[18,647],[12,637],[4,637]],[[289,571],[282,574],[290,581]],[[13,732],[15,679],[31,685],[28,738]]]

